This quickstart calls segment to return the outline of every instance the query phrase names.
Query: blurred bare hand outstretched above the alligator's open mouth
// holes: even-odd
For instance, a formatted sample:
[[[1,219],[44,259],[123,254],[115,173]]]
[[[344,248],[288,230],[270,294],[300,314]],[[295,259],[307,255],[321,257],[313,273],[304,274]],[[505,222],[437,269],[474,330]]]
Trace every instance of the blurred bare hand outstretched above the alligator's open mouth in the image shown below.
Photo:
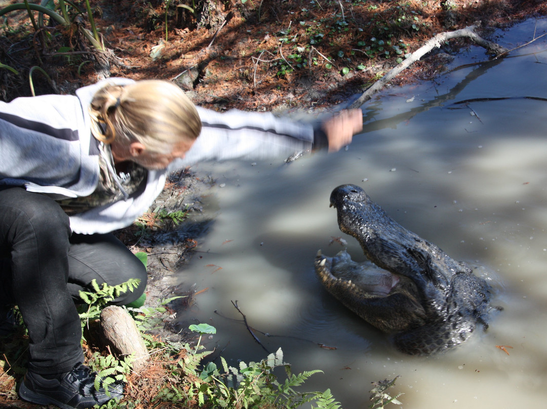
[[[363,130],[363,111],[360,109],[342,110],[321,125],[327,135],[329,152],[336,152],[349,145],[353,135]]]

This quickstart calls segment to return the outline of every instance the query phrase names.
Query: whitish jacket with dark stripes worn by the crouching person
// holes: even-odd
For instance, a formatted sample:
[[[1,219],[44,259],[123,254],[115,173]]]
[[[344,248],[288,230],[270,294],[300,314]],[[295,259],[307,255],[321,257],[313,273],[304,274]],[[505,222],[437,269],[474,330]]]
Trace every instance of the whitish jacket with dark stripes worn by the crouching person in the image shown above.
[[[24,186],[54,198],[88,196],[98,184],[98,149],[91,136],[89,103],[110,78],[71,95],[45,95],[0,102],[0,185]],[[197,107],[202,131],[184,159],[163,171],[148,171],[146,188],[127,200],[70,217],[77,233],[106,233],[129,226],[164,189],[167,174],[204,160],[261,159],[311,149],[311,124],[271,113],[230,110],[217,113]],[[317,136],[316,136],[317,138]],[[324,141],[322,141],[324,142]]]

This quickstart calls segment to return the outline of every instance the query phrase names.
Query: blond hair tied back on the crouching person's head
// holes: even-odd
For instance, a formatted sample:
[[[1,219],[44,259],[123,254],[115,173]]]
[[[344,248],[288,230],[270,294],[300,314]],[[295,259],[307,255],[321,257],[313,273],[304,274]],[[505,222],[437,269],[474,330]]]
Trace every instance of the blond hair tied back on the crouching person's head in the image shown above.
[[[91,133],[99,141],[140,142],[159,154],[171,153],[175,143],[193,141],[201,132],[196,107],[169,81],[106,85],[94,95],[89,112]]]

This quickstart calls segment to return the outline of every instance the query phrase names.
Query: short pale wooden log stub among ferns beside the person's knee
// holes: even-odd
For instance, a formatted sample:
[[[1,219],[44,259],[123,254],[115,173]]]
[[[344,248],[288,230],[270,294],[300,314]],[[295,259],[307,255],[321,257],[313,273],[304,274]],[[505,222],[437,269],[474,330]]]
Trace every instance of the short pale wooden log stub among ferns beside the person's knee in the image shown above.
[[[117,306],[108,306],[101,312],[101,329],[107,345],[118,355],[133,354],[133,370],[141,369],[148,360],[148,351],[135,320]]]

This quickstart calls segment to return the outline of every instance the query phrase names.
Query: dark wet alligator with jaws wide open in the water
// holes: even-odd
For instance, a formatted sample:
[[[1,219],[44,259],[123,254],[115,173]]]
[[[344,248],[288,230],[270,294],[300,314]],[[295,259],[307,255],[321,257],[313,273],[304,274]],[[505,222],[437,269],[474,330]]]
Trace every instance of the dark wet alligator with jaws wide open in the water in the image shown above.
[[[357,239],[368,258],[343,250],[317,253],[315,270],[330,294],[411,355],[442,352],[488,328],[491,287],[462,261],[405,229],[357,185],[330,195],[340,230]]]

